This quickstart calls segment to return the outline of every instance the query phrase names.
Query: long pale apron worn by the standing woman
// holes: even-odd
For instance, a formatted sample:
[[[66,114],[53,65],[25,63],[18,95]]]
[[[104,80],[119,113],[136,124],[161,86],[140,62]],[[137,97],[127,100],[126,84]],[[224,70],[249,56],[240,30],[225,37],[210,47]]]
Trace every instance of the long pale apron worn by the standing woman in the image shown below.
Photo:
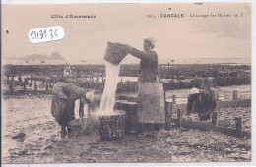
[[[138,83],[138,122],[165,123],[165,101],[163,85],[156,83]]]

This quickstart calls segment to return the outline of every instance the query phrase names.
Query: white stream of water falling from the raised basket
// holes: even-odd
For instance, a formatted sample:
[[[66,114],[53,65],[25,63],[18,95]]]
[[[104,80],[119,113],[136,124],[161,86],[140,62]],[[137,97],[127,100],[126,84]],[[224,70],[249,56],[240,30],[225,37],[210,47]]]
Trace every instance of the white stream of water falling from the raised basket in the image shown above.
[[[119,69],[120,65],[114,65],[105,61],[105,85],[100,102],[100,115],[115,114],[115,91],[118,83]]]

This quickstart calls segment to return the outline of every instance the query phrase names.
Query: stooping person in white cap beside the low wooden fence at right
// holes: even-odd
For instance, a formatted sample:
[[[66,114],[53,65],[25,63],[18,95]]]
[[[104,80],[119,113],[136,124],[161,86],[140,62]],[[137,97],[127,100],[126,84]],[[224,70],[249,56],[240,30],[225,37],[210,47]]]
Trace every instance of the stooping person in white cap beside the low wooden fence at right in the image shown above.
[[[193,112],[197,113],[200,121],[211,118],[212,112],[217,107],[217,90],[215,88],[192,88],[188,96],[187,117]]]

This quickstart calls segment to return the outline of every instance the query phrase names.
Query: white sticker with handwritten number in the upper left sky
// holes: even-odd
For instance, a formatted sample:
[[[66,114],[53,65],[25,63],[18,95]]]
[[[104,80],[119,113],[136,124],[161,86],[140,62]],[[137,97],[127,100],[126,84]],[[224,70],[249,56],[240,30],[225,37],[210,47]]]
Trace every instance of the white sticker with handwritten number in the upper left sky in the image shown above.
[[[64,37],[64,29],[61,26],[48,28],[35,28],[29,31],[31,43],[42,43],[53,40],[60,40]]]

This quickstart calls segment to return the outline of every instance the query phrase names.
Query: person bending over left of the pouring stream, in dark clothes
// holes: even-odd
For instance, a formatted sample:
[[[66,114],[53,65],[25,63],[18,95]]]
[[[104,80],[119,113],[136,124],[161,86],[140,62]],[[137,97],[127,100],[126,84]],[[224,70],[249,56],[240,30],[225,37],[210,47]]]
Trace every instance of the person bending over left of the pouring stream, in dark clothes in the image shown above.
[[[77,99],[84,104],[90,103],[94,99],[94,93],[65,81],[53,85],[51,114],[61,126],[63,138],[67,133],[71,133],[69,122],[75,119],[74,109]]]

